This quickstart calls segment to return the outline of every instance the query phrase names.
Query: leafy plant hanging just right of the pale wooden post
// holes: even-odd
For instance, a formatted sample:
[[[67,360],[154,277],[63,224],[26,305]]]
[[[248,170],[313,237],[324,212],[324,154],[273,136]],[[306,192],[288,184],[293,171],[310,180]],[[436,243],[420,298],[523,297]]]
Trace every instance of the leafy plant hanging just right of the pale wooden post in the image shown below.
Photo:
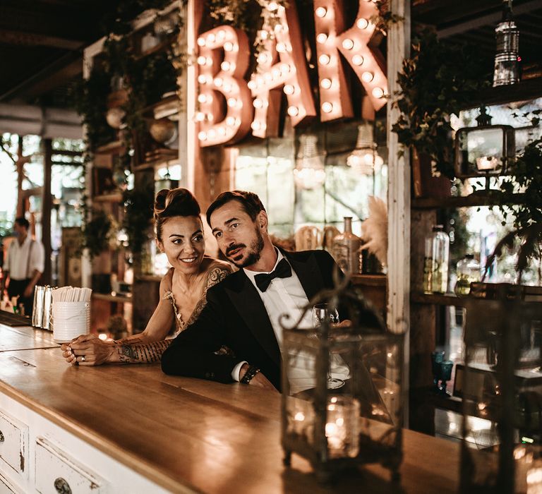
[[[426,29],[414,37],[411,56],[397,76],[401,90],[394,104],[401,114],[392,131],[399,143],[428,155],[449,179],[454,178],[450,115],[459,115],[489,87],[490,61],[481,61],[476,47],[439,40]]]

